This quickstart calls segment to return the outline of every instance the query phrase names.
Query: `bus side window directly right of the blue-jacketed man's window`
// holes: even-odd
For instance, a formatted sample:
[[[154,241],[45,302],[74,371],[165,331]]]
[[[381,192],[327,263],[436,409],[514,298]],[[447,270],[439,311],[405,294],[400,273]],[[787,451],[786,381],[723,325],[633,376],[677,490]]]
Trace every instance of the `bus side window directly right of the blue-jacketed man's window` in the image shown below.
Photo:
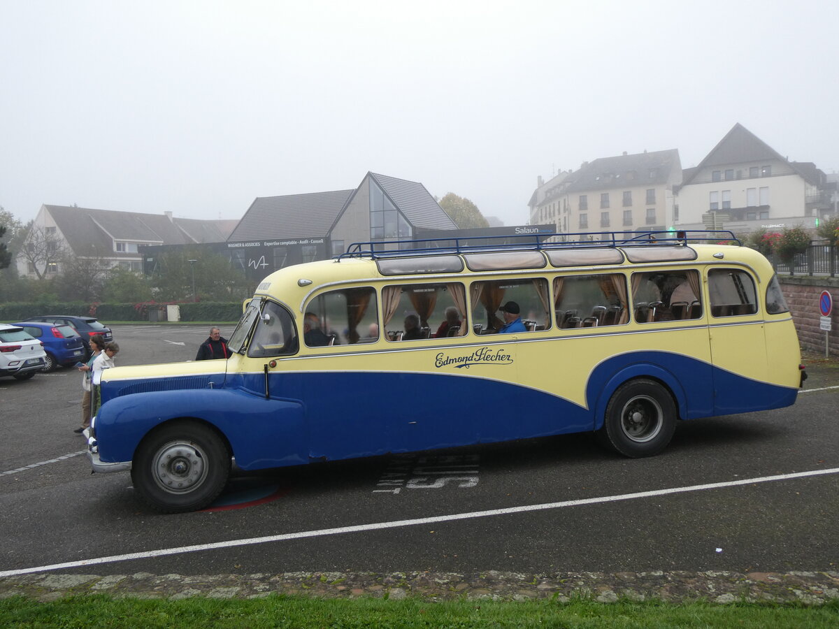
[[[629,320],[623,273],[554,279],[554,311],[560,328],[621,325]]]

